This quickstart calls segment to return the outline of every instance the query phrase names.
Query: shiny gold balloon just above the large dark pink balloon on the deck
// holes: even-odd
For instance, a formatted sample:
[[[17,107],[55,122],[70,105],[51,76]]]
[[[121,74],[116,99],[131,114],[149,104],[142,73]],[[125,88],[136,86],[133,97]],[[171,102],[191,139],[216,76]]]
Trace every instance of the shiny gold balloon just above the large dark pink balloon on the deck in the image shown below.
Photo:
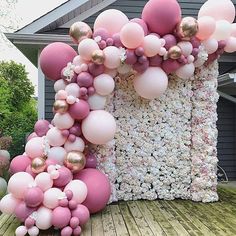
[[[84,169],[85,164],[85,155],[82,152],[78,151],[68,152],[64,159],[64,165],[73,173],[77,173],[80,170]]]

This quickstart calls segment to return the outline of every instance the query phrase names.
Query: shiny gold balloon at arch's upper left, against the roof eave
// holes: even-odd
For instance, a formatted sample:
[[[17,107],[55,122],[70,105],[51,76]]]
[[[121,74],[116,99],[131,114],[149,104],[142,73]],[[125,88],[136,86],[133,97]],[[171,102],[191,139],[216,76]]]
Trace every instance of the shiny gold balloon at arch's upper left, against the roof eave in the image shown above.
[[[88,24],[78,21],[70,27],[69,35],[74,43],[79,44],[83,39],[92,37],[92,30]]]

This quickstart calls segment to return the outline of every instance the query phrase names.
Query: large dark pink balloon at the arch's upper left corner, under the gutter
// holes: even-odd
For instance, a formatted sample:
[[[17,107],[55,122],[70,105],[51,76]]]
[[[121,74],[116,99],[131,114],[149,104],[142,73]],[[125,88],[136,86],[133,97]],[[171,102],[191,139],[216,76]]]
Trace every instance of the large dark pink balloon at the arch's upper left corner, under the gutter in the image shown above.
[[[61,70],[76,55],[76,51],[65,43],[51,43],[40,54],[40,67],[48,79],[58,80],[61,78]]]

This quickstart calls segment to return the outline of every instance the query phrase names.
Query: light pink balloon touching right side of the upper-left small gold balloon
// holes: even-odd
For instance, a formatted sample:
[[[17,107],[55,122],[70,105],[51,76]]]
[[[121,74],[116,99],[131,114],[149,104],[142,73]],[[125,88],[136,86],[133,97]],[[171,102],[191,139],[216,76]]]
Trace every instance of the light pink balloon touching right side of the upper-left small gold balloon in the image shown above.
[[[120,50],[117,47],[109,46],[104,50],[105,61],[104,65],[109,69],[116,69],[120,66]]]

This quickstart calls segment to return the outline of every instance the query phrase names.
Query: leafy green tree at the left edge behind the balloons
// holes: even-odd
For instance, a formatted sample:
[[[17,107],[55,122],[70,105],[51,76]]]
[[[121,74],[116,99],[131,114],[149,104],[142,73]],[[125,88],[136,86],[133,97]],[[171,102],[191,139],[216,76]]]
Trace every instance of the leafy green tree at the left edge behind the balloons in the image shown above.
[[[25,67],[15,62],[0,63],[0,131],[12,137],[12,156],[24,152],[26,134],[37,120],[33,85]]]

